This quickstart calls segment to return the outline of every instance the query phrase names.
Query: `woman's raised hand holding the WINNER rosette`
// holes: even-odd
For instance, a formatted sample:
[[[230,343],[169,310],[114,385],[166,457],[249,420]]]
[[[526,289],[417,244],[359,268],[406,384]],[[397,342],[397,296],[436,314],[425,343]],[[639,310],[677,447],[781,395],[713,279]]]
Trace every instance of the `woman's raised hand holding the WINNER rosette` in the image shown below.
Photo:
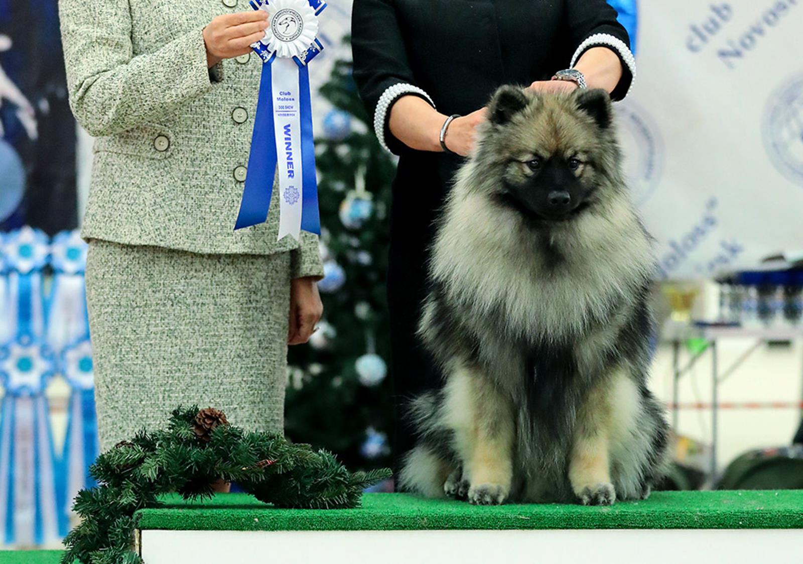
[[[203,29],[207,66],[214,67],[222,59],[233,59],[250,53],[251,43],[265,36],[269,25],[267,19],[267,12],[264,10],[223,14],[213,18]]]

